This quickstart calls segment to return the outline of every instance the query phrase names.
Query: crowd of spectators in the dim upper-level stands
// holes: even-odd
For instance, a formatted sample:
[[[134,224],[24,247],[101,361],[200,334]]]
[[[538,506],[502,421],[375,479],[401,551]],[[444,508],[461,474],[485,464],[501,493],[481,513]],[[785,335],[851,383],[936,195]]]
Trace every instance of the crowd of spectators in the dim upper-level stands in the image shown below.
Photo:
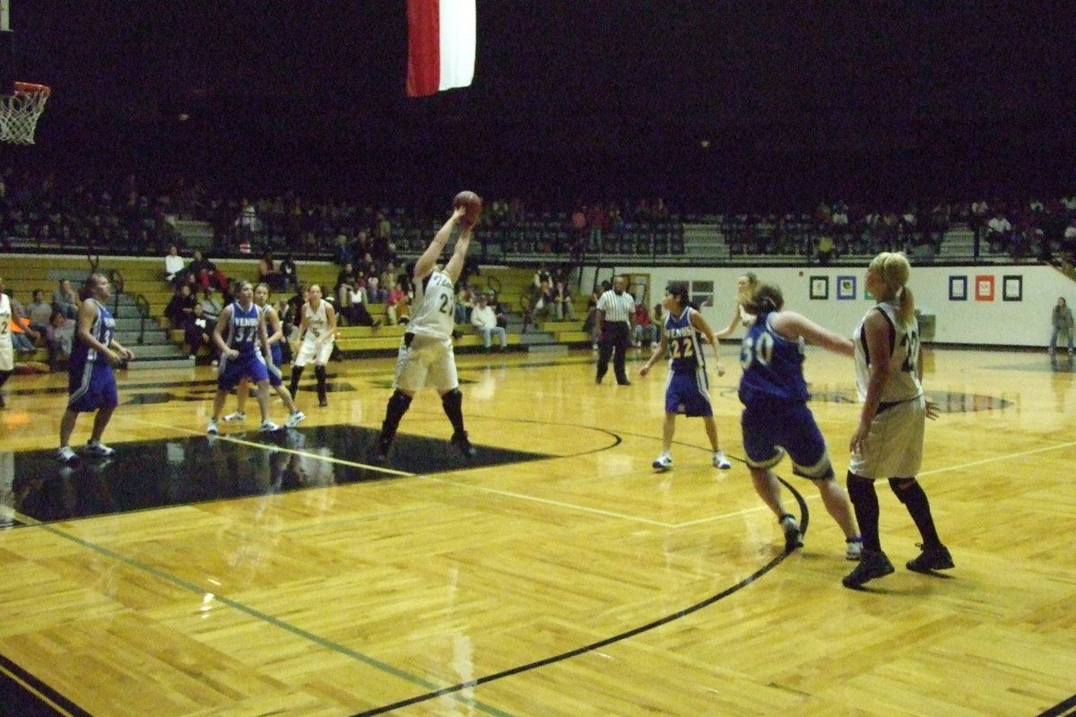
[[[443,210],[443,207],[441,207]],[[0,242],[90,247],[96,252],[158,254],[183,248],[178,221],[206,221],[215,256],[320,256],[341,267],[369,260],[384,266],[425,246],[443,212],[436,207],[367,199],[317,199],[298,192],[224,198],[203,183],[171,181],[146,186],[133,175],[117,186],[65,185],[52,175],[0,175]],[[878,207],[844,200],[811,211],[737,212],[725,207],[670,209],[664,198],[578,201],[572,206],[530,206],[523,199],[487,200],[476,230],[473,260],[555,255],[575,262],[600,254],[660,258],[683,253],[683,225],[718,221],[733,257],[803,256],[820,262],[847,255],[904,249],[934,254],[946,232],[966,224],[976,255],[1050,259],[1076,254],[1076,196],[952,203],[909,202]],[[294,282],[289,261],[266,278],[275,289]],[[278,273],[280,274],[278,275]],[[382,287],[390,291],[392,286]]]

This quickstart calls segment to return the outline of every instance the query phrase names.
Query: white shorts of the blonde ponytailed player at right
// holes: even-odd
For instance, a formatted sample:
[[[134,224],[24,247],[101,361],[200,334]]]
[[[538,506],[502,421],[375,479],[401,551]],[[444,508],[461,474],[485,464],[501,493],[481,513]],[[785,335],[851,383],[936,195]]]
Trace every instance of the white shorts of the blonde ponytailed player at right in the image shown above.
[[[870,421],[866,454],[853,453],[848,470],[864,478],[910,478],[923,463],[926,399],[880,407]]]

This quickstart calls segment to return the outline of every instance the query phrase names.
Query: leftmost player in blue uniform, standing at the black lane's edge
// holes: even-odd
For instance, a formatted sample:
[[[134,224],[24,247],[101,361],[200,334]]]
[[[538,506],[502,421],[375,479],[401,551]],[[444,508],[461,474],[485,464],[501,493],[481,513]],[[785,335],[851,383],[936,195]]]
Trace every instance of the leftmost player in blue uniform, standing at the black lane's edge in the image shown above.
[[[116,321],[104,306],[110,296],[112,286],[102,274],[90,274],[82,287],[74,343],[68,360],[68,407],[60,419],[60,447],[56,450],[57,460],[65,463],[79,459],[68,443],[80,413],[97,412],[86,453],[98,457],[116,453],[101,443],[101,434],[119,404],[112,369],[131,360],[134,354],[116,341]]]

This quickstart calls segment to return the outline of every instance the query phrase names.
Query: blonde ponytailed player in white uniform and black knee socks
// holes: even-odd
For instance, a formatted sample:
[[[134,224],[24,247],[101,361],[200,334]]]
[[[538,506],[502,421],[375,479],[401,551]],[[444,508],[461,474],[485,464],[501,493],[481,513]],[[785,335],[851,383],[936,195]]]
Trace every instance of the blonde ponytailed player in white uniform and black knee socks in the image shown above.
[[[882,252],[867,267],[867,291],[878,299],[855,330],[855,377],[863,401],[860,425],[852,434],[848,494],[863,530],[863,558],[845,576],[845,587],[893,572],[878,535],[876,478],[889,478],[922,536],[922,554],[908,570],[929,573],[953,567],[931,515],[931,504],[916,474],[923,462],[926,419],[937,418],[923,396],[923,368],[915,300],[907,287],[911,267],[903,254]]]

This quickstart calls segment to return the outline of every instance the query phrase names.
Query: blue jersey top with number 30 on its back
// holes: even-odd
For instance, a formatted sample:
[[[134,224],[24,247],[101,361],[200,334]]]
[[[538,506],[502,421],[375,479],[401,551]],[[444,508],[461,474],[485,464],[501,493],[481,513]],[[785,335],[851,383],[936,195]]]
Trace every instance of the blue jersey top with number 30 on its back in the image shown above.
[[[753,399],[806,402],[807,382],[804,379],[804,343],[787,339],[774,330],[774,314],[759,317],[740,344],[739,398],[745,404]]]

